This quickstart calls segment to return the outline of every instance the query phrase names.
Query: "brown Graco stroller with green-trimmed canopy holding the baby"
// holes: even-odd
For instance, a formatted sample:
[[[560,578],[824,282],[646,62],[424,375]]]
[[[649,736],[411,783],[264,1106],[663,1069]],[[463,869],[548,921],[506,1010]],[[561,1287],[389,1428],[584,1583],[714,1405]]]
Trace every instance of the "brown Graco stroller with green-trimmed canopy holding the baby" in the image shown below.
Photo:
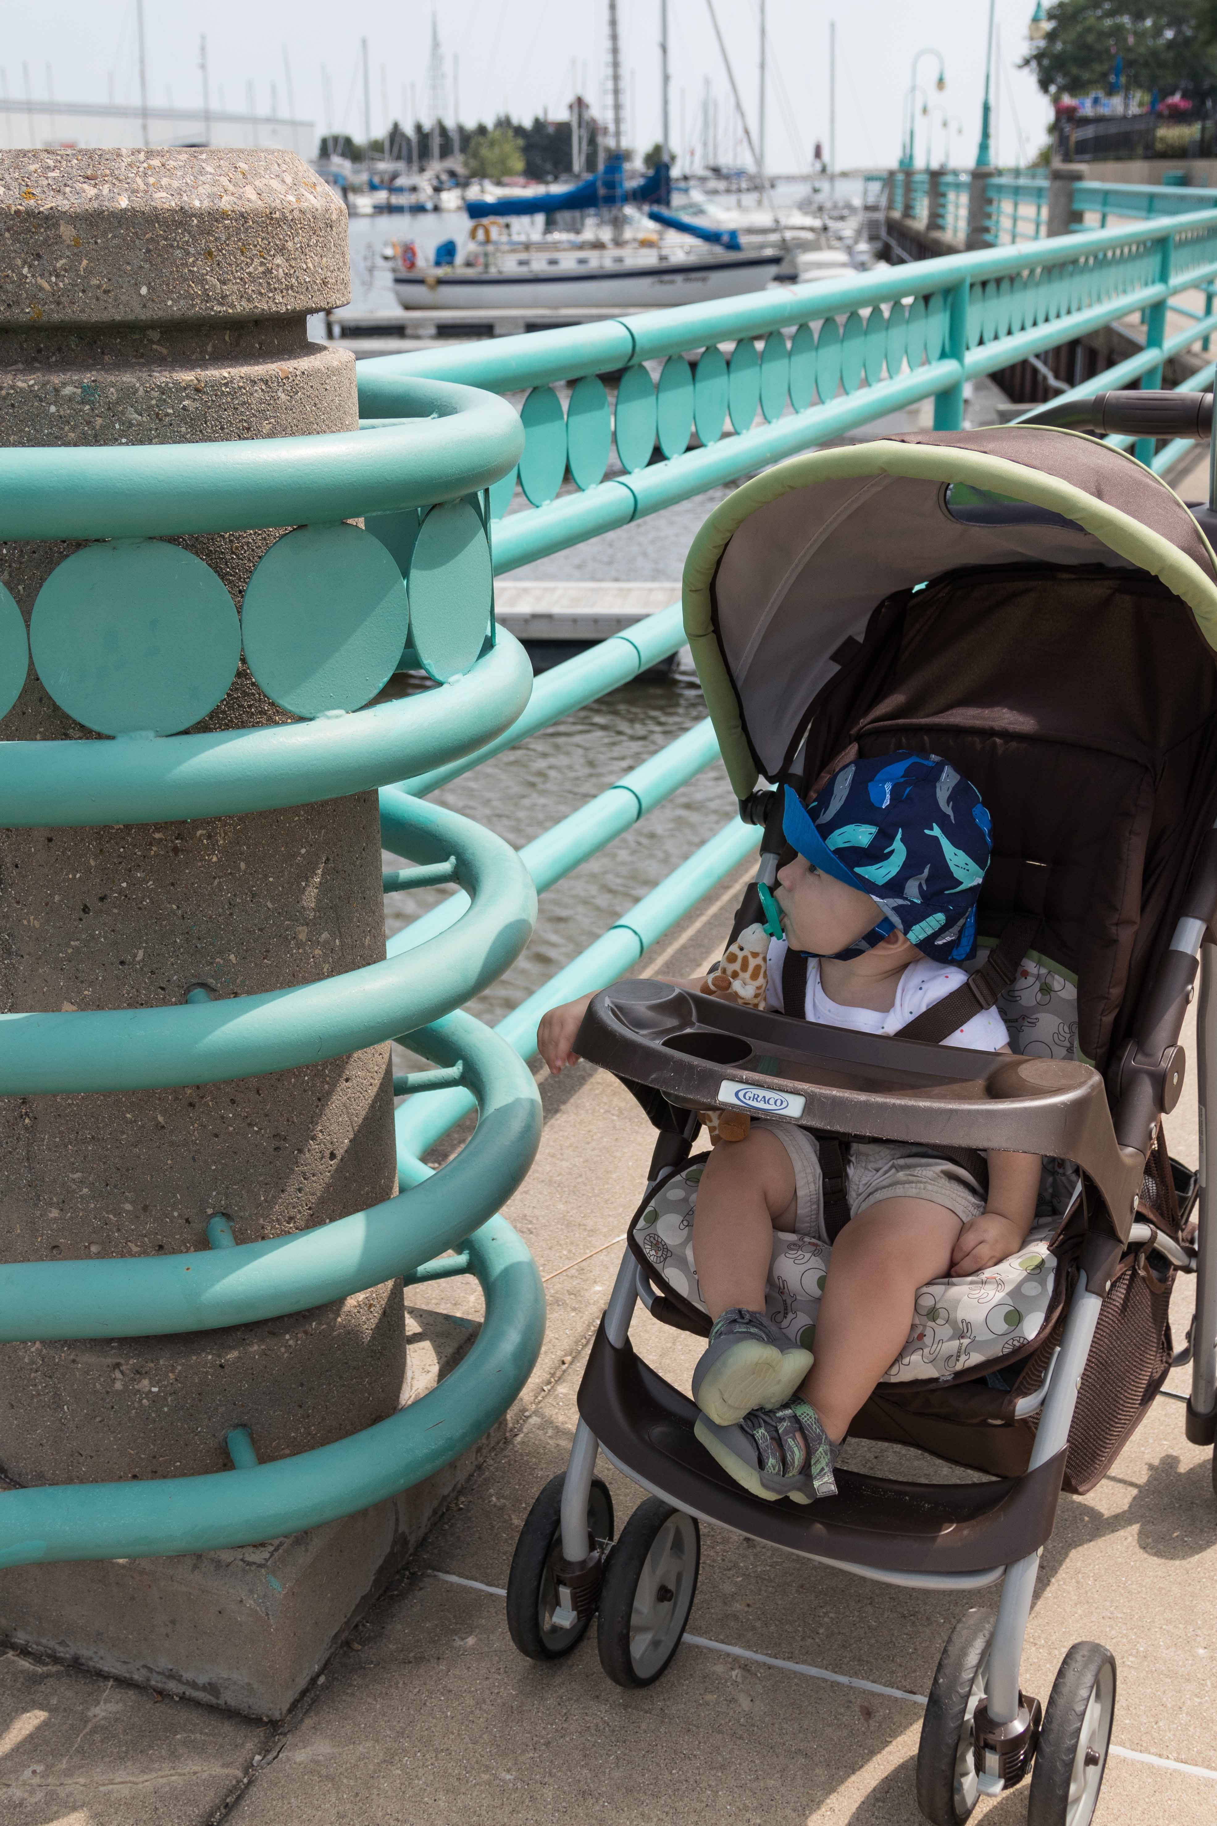
[[[690,1616],[699,1521],[870,1579],[1000,1583],[996,1611],[963,1614],[934,1674],[918,1753],[932,1826],[958,1826],[1027,1771],[1031,1826],[1091,1819],[1115,1660],[1075,1643],[1045,1705],[1020,1691],[1038,1556],[1060,1490],[1098,1483],[1190,1357],[1188,1437],[1215,1437],[1217,1247],[1201,1176],[1171,1165],[1162,1118],[1182,1088],[1179,1034],[1202,946],[1202,1105],[1217,1057],[1217,562],[1208,509],[1078,435],[1210,425],[1208,394],[1100,394],[1031,424],[817,451],[732,495],[684,568],[684,624],[723,758],[741,816],[765,825],[733,931],[763,918],[757,884],[790,855],[785,783],[806,800],[858,754],[943,756],[993,816],[969,986],[976,1010],[1005,1017],[1014,1057],[648,981],[597,995],[577,1039],[629,1085],[659,1139],[567,1470],[516,1545],[513,1640],[553,1660],[597,1614],[606,1673],[650,1685]],[[909,1349],[850,1428],[980,1481],[839,1468],[836,1497],[759,1501],[697,1444],[693,1402],[631,1348],[637,1300],[710,1331],[688,1251],[701,1176],[690,1156],[699,1112],[732,1107],[814,1130],[821,1163],[825,1141],[852,1136],[1044,1158],[1018,1258],[973,1276],[987,1287],[921,1291]],[[825,1265],[775,1264],[768,1311],[796,1338],[814,1324]],[[1179,1271],[1199,1271],[1199,1298],[1175,1351]],[[617,1539],[598,1452],[650,1492]]]

